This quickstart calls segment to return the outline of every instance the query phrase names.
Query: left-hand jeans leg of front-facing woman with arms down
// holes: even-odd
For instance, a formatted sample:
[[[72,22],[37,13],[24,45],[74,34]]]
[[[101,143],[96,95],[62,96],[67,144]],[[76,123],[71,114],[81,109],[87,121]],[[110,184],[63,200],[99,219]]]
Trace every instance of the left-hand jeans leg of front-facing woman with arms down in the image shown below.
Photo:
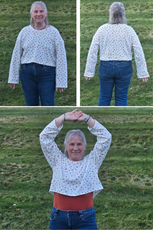
[[[22,64],[20,79],[26,106],[39,106],[38,83],[32,64]]]

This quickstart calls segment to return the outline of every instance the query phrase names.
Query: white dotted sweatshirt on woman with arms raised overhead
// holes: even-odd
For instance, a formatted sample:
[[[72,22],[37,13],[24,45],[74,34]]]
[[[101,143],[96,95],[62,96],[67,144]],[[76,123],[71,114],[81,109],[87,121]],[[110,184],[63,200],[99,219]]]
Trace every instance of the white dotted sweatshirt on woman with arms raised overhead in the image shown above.
[[[79,196],[93,192],[95,197],[103,186],[98,178],[98,170],[106,157],[111,143],[111,134],[95,120],[90,132],[97,136],[94,149],[81,161],[71,161],[63,154],[54,139],[63,126],[57,128],[53,120],[40,134],[42,151],[53,170],[49,192],[67,196]]]

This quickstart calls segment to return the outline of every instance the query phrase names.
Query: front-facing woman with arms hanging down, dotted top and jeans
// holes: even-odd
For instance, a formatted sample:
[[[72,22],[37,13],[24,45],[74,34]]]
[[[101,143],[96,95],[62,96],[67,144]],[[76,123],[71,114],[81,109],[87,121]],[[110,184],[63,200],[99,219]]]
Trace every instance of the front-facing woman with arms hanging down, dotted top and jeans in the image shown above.
[[[30,10],[30,25],[17,37],[8,83],[12,89],[20,79],[27,106],[54,106],[54,94],[67,88],[67,60],[64,41],[49,25],[46,5],[37,1]]]

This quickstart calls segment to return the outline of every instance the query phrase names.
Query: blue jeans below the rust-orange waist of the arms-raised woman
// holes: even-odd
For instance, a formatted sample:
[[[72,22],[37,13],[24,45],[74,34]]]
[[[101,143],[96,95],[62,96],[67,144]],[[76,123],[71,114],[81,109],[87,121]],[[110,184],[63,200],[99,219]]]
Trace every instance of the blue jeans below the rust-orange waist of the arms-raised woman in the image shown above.
[[[94,208],[83,211],[61,211],[53,207],[50,216],[49,230],[54,229],[92,229],[97,230]]]

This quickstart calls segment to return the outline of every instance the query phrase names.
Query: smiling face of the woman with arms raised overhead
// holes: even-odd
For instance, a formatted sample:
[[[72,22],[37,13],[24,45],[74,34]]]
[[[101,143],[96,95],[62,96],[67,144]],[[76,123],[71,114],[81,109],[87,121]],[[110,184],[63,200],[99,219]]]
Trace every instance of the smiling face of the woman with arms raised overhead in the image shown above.
[[[80,137],[76,137],[66,144],[65,149],[68,152],[68,156],[71,161],[81,161],[86,146]]]

